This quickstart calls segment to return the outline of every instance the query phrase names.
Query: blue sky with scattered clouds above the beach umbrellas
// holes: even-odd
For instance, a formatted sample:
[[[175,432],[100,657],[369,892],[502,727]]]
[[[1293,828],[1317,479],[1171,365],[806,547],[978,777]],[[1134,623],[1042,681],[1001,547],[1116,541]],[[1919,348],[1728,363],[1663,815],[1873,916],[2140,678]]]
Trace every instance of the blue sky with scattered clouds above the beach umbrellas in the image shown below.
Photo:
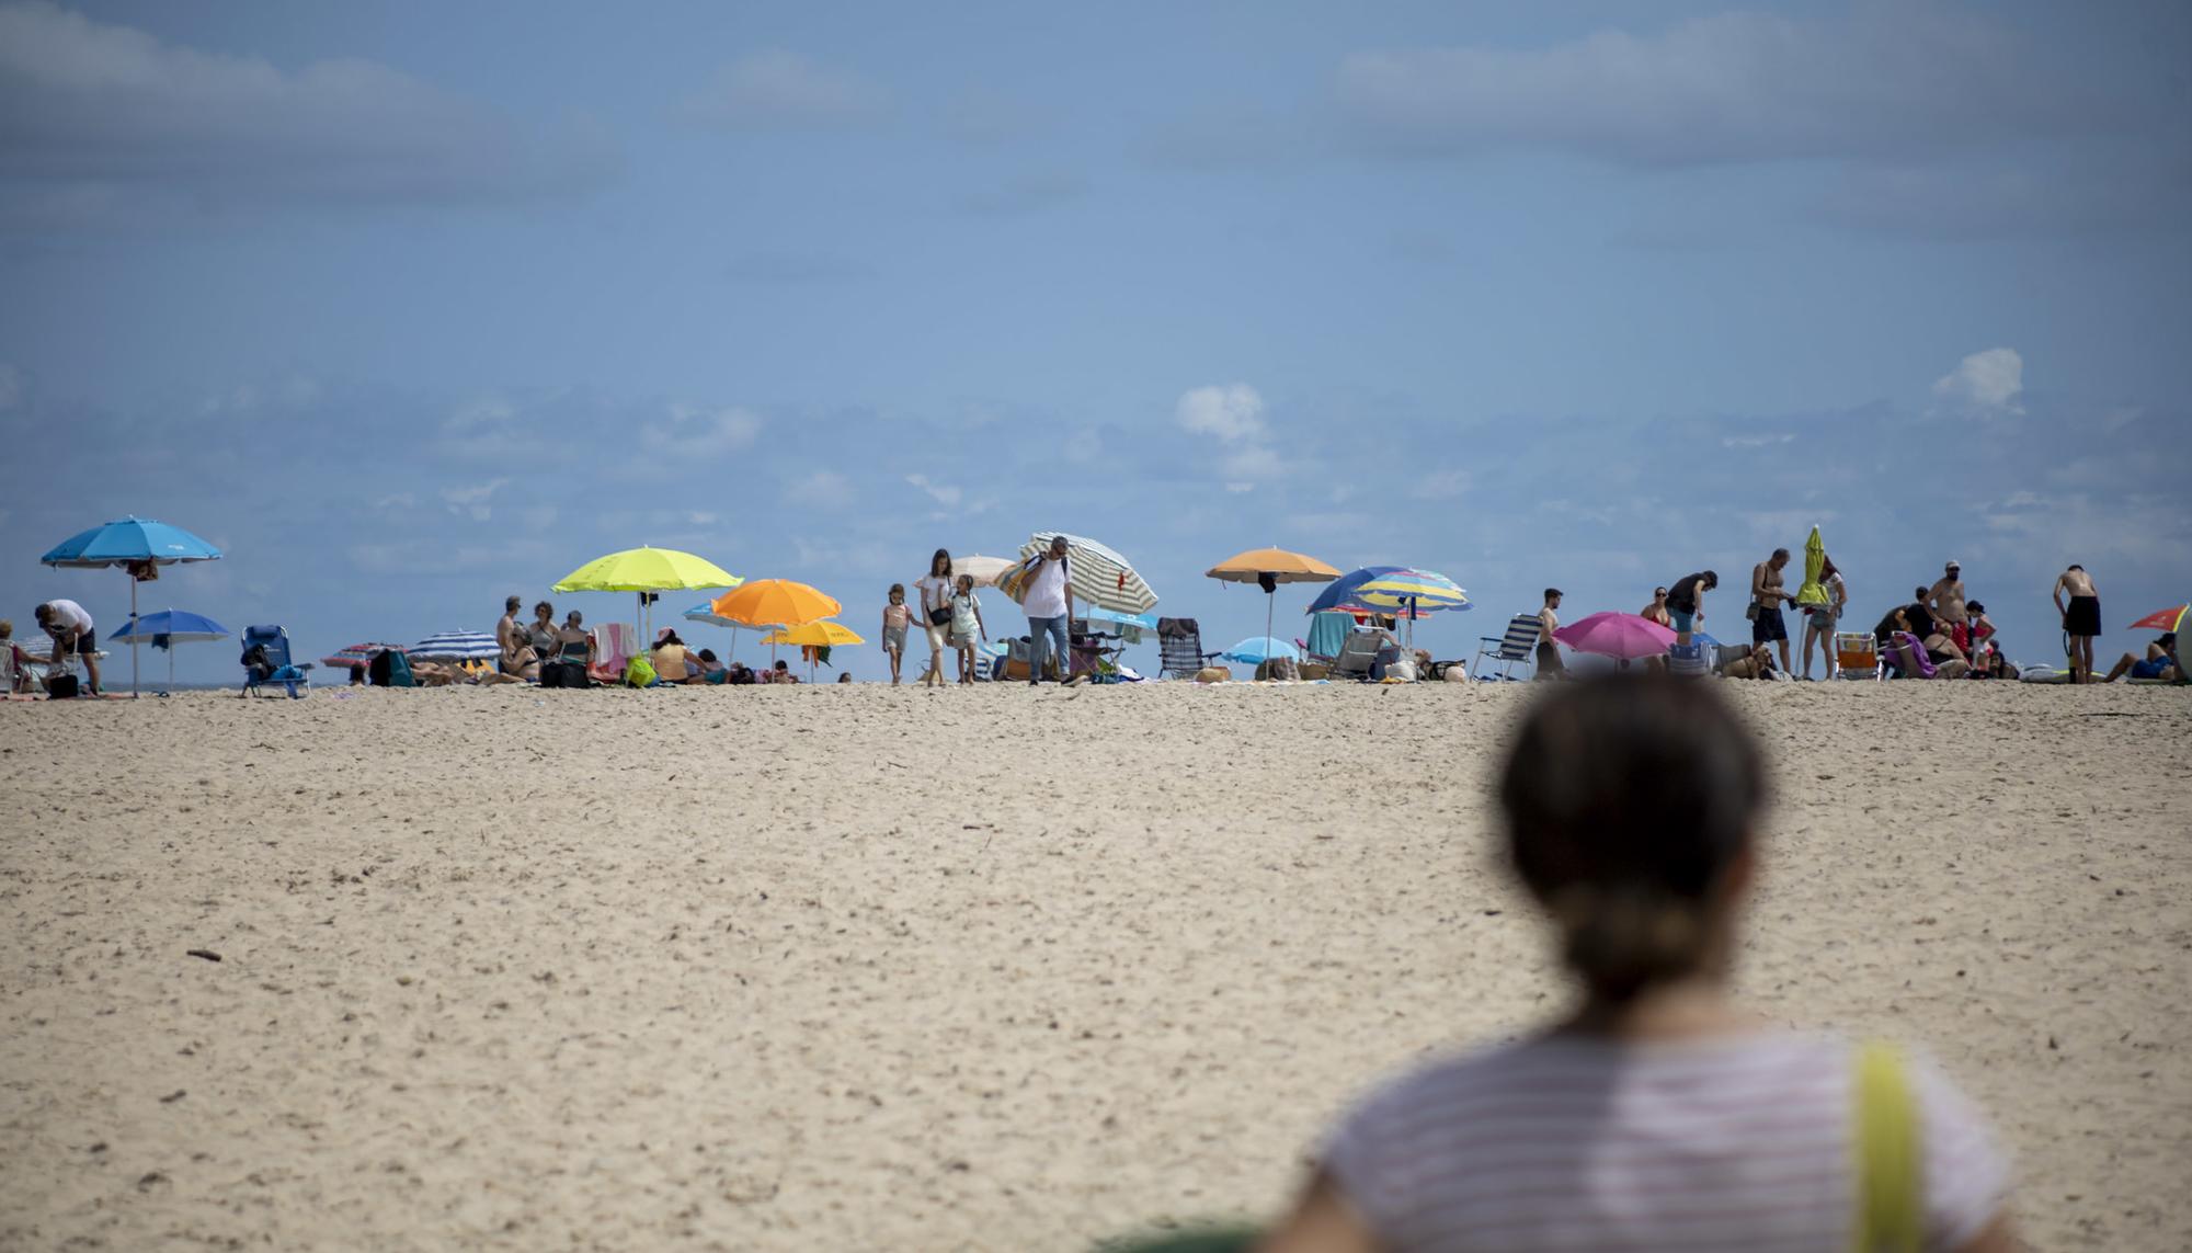
[[[0,4],[0,611],[118,622],[37,554],[138,513],[230,552],[147,605],[313,653],[636,543],[872,633],[1065,528],[1212,646],[1236,550],[1442,570],[1466,655],[1817,521],[1868,622],[1955,556],[2050,659],[2067,561],[2111,626],[2192,598],[2185,53],[2177,4]]]

